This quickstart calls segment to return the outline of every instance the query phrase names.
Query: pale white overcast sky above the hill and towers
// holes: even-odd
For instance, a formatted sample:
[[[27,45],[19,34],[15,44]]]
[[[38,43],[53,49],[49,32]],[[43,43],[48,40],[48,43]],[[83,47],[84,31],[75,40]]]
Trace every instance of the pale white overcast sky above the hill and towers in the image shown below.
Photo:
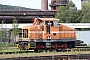
[[[49,0],[50,3],[51,0]],[[81,8],[80,0],[72,0],[77,9]],[[0,0],[0,4],[41,9],[41,0]],[[50,9],[50,7],[49,7]]]

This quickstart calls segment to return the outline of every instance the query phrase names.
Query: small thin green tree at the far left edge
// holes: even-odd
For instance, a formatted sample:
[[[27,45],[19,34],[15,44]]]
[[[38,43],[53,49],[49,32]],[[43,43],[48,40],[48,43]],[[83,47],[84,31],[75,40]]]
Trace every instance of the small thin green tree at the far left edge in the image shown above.
[[[7,30],[6,30],[5,26],[4,26],[5,21],[2,20],[1,24],[2,24],[1,25],[2,28],[0,30],[0,39],[1,39],[2,42],[5,43],[5,41],[7,40]]]

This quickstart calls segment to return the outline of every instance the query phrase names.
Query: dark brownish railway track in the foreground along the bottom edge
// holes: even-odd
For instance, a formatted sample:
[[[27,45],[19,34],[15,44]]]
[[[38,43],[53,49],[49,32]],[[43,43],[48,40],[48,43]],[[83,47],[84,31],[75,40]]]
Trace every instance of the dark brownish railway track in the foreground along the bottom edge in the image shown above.
[[[17,58],[2,58],[0,60],[72,60],[72,59],[90,59],[90,54],[77,55],[47,55],[47,56],[32,56],[32,57],[17,57]]]

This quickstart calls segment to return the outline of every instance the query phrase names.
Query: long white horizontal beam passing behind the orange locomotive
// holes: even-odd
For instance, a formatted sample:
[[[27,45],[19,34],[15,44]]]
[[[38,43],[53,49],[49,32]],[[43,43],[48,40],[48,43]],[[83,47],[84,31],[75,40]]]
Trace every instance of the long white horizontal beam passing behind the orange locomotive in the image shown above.
[[[71,28],[90,28],[90,23],[59,23]],[[23,26],[33,25],[32,23],[24,23],[19,24],[18,28],[22,28]],[[0,24],[0,28],[2,28],[2,24]],[[3,24],[3,28],[12,28],[12,24]]]

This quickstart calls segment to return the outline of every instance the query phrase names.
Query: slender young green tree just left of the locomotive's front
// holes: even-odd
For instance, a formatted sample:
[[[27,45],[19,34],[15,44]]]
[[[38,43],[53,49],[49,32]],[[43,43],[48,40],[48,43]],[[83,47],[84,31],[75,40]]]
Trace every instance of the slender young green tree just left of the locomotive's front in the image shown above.
[[[12,24],[12,34],[14,36],[14,43],[16,43],[16,36],[18,35],[19,28],[18,28],[18,20],[14,19]]]

